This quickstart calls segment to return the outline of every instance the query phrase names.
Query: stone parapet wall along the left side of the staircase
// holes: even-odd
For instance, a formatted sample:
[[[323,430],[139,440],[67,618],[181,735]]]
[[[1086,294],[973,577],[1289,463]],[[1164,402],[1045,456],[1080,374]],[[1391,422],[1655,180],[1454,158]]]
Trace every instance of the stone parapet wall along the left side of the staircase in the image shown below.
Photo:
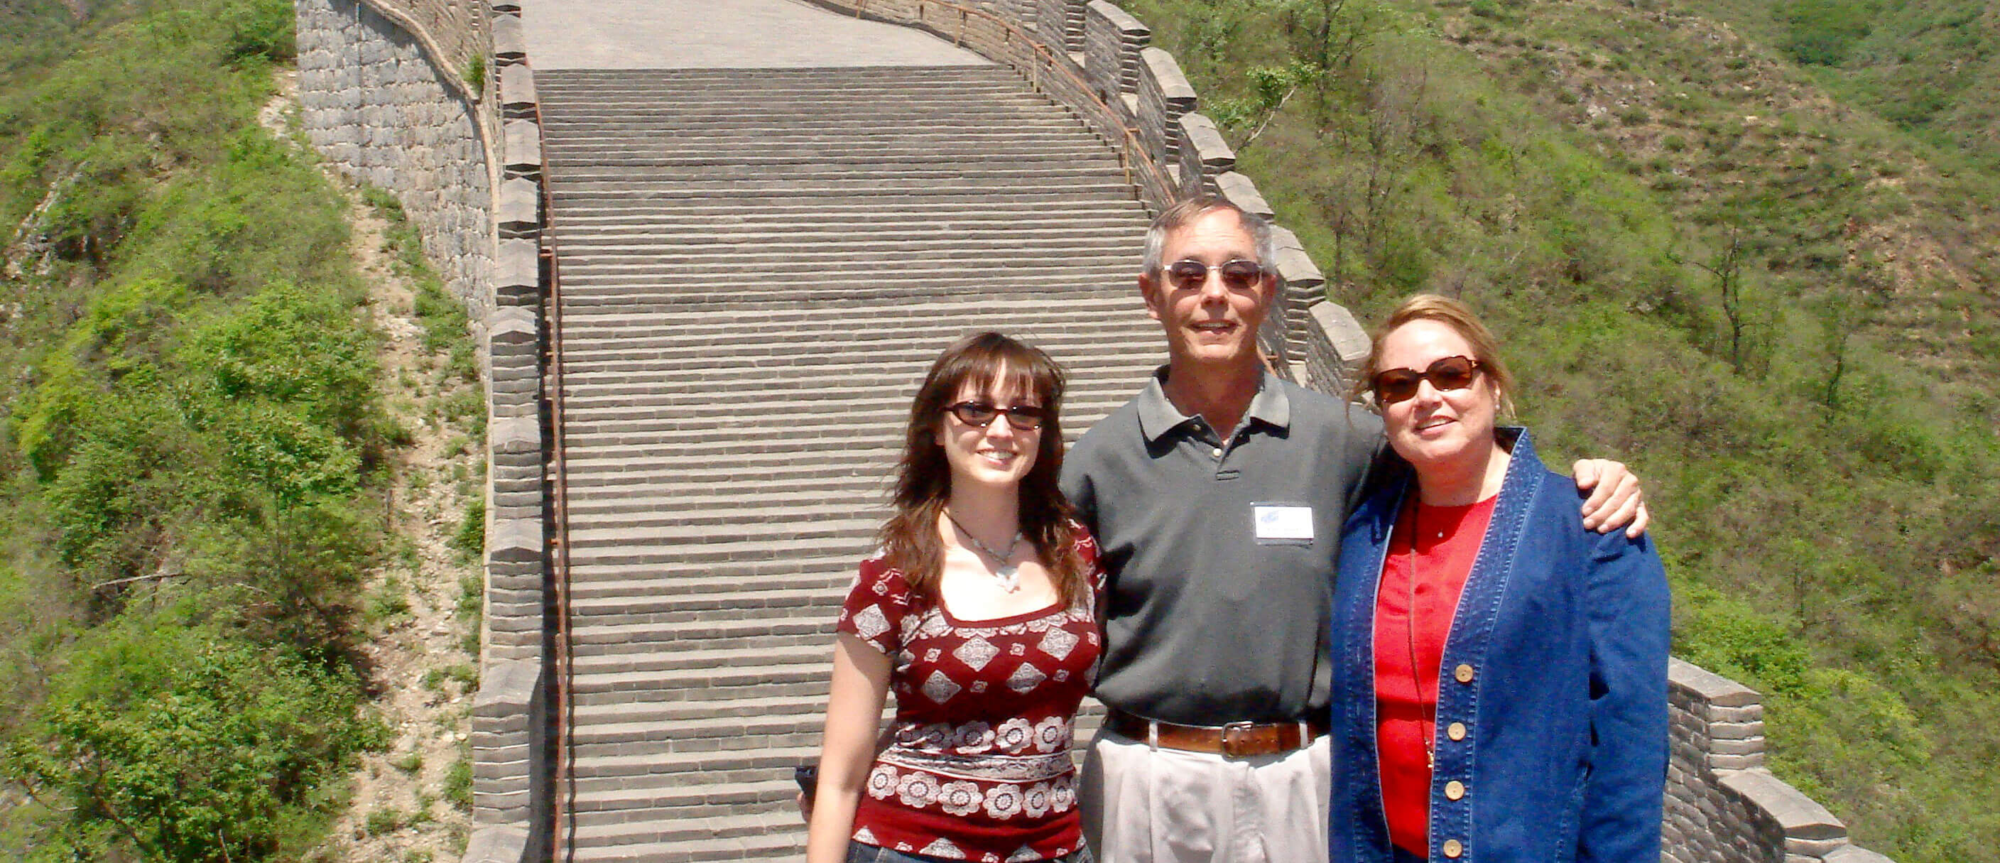
[[[472,709],[466,861],[546,859],[548,435],[542,400],[542,174],[520,6],[298,0],[306,138],[354,182],[396,196],[486,370],[486,601]],[[492,18],[488,18],[492,14]]]

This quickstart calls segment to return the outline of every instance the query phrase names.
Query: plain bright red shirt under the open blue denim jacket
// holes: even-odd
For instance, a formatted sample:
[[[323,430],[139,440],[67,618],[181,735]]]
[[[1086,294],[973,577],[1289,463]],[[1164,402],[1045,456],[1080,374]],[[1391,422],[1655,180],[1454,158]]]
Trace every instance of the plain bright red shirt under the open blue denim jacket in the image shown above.
[[[1396,519],[1388,557],[1382,561],[1374,619],[1382,811],[1388,815],[1390,841],[1418,857],[1430,853],[1430,747],[1438,733],[1438,667],[1444,663],[1444,639],[1452,635],[1458,595],[1472,575],[1472,561],[1480,555],[1496,499],[1468,507],[1424,507],[1410,495],[1410,503]]]

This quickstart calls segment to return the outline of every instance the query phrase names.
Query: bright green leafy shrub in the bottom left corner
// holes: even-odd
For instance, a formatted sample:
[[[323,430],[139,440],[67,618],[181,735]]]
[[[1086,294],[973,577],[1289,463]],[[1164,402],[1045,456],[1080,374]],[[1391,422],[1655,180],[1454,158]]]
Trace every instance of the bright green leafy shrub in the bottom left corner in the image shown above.
[[[322,785],[380,745],[358,697],[350,675],[220,627],[128,617],[76,647],[0,769],[58,803],[44,839],[66,853],[268,857],[324,819]]]

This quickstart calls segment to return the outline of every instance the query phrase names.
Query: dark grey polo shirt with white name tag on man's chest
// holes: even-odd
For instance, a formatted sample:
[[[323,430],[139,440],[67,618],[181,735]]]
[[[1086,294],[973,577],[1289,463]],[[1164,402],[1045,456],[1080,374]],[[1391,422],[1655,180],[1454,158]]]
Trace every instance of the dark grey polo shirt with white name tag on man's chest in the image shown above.
[[[1182,725],[1324,717],[1340,527],[1382,420],[1266,372],[1222,441],[1164,378],[1062,467],[1110,577],[1096,695]]]

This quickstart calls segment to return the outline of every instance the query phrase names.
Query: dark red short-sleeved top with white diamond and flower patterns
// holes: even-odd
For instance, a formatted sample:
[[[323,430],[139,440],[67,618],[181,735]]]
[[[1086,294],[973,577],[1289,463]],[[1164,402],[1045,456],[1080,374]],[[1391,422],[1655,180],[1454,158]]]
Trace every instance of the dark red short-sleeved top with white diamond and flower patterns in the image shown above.
[[[1096,597],[1098,547],[1076,533]],[[896,691],[892,743],[868,771],[854,841],[980,863],[1076,851],[1070,737],[1102,649],[1096,615],[1052,605],[960,621],[942,603],[918,607],[878,555],[840,609],[842,633],[890,657]]]

